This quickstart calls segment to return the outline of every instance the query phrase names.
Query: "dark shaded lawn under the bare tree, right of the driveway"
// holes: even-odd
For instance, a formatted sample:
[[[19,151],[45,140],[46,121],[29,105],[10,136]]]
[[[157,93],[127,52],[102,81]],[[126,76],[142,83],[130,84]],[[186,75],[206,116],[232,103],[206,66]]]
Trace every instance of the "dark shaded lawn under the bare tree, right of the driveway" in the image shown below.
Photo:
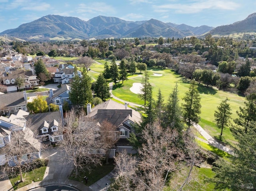
[[[72,174],[70,175],[69,179],[71,180],[76,180],[79,182],[82,182],[86,184],[84,180],[84,176],[88,177],[88,183],[86,184],[87,186],[92,185],[96,181],[102,179],[104,176],[106,176],[108,173],[110,173],[114,169],[114,160],[109,159],[110,163],[108,165],[104,164],[102,166],[97,166],[92,169],[92,172],[86,172],[86,173],[80,173],[78,177],[75,177],[75,172],[72,171]]]

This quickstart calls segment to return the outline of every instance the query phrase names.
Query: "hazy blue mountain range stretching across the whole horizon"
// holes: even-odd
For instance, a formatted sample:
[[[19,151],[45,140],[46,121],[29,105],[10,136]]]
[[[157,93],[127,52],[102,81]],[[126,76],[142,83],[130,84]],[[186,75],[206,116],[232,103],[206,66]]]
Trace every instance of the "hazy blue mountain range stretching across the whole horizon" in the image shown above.
[[[122,37],[174,37],[182,38],[190,35],[220,34],[228,35],[234,32],[256,32],[256,13],[245,20],[231,25],[192,27],[186,24],[164,23],[159,20],[126,21],[116,17],[97,16],[83,21],[76,17],[47,15],[30,23],[22,24],[16,29],[1,32],[23,40],[72,40],[72,39],[102,39]]]

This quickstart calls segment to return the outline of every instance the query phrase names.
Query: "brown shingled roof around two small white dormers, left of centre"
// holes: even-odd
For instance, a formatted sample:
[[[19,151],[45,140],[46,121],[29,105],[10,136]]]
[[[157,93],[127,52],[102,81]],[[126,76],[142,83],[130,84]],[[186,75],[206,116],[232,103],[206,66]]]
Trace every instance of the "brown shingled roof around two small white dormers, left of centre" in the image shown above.
[[[44,121],[46,121],[48,124],[51,124],[54,120],[58,122],[58,131],[55,132],[48,132],[48,134],[52,136],[62,135],[62,126],[61,124],[61,115],[60,111],[54,111],[54,112],[46,112],[46,113],[37,113],[37,114],[30,114],[27,116],[24,116],[24,118],[27,120],[27,123],[29,124],[29,128],[39,136],[42,135],[42,131],[40,130],[42,128],[42,124]],[[53,122],[56,124],[56,122]]]

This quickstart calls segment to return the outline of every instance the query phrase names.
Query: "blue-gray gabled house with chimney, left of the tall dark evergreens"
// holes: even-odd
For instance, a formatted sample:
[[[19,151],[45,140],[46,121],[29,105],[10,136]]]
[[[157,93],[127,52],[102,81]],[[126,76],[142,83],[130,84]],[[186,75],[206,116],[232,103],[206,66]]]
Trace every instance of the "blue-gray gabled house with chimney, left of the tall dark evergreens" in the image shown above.
[[[69,100],[70,91],[71,91],[71,87],[66,84],[62,84],[61,87],[56,91],[53,91],[52,89],[50,89],[49,97],[46,98],[47,104],[49,105],[51,103],[54,103],[58,105],[58,104],[63,104],[65,101],[68,102],[68,104],[71,104]]]

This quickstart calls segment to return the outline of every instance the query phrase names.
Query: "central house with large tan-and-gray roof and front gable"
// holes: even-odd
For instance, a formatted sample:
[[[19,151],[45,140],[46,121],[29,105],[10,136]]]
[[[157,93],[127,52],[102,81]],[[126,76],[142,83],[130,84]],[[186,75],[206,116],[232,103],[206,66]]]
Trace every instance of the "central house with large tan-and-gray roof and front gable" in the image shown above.
[[[91,105],[87,105],[87,116],[95,119],[99,124],[103,121],[108,121],[116,127],[119,131],[118,141],[115,148],[112,149],[112,156],[116,152],[127,152],[134,154],[137,151],[131,146],[128,138],[130,133],[134,132],[134,124],[140,123],[140,113],[134,109],[128,108],[126,104],[120,104],[113,100],[107,100],[102,104],[96,105],[91,108]],[[111,156],[110,156],[111,157]]]

